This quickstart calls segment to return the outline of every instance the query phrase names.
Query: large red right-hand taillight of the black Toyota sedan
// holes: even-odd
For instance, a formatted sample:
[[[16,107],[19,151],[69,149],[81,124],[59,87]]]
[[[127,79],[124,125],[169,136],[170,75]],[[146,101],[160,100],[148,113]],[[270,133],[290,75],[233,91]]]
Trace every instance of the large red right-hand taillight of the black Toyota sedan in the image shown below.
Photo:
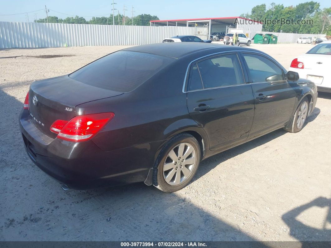
[[[57,120],[50,130],[57,133],[57,138],[67,141],[81,142],[91,139],[111,119],[114,113],[75,116],[70,121]]]

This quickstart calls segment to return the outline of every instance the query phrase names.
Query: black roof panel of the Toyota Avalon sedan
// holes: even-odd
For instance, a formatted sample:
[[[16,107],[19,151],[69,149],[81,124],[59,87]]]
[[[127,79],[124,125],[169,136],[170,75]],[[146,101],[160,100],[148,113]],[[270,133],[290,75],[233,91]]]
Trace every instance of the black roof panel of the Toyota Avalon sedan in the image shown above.
[[[215,43],[204,43],[204,42],[169,42],[169,43],[155,43],[149,45],[133,46],[125,48],[121,51],[133,51],[133,52],[142,52],[156,54],[166,57],[171,57],[179,59],[186,55],[206,51],[206,55],[223,52],[223,51],[233,51],[233,50],[243,50],[243,51],[261,51],[240,47],[240,46],[229,46],[221,45]]]

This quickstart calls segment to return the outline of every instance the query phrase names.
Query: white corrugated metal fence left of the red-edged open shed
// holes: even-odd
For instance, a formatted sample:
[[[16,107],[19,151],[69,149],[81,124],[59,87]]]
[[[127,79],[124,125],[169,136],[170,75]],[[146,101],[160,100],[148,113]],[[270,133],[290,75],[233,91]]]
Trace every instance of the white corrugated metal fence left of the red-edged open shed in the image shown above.
[[[0,48],[144,45],[194,27],[0,22]]]

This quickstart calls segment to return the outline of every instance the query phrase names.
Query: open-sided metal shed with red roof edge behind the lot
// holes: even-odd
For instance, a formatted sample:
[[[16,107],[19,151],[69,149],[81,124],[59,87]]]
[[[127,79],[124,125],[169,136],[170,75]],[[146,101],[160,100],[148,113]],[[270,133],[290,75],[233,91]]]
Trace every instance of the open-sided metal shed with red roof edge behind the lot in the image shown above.
[[[262,24],[243,17],[215,17],[215,18],[196,18],[196,19],[177,19],[177,20],[155,20],[150,21],[151,26],[187,26],[204,27],[208,29],[208,37],[211,33],[227,32],[228,28],[240,28],[249,33],[262,31]],[[207,35],[207,33],[206,33]]]

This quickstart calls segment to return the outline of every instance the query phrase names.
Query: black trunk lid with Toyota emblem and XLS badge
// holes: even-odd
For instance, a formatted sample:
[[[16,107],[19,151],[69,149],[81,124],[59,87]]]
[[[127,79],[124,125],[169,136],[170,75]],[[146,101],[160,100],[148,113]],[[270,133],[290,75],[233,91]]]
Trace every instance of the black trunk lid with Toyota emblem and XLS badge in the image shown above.
[[[117,92],[78,82],[68,75],[49,78],[31,84],[29,91],[29,112],[31,123],[42,133],[55,138],[50,131],[56,120],[69,121],[79,115],[75,106],[121,95]]]

